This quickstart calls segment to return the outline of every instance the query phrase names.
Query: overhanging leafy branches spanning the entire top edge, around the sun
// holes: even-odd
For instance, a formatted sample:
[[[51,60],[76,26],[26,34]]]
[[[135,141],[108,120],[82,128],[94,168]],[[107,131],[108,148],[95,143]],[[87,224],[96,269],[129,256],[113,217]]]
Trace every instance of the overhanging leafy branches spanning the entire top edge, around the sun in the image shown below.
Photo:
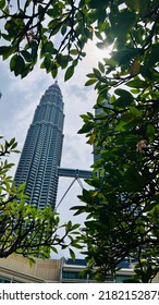
[[[144,66],[150,73],[158,62],[158,1],[130,0],[102,1],[14,1],[9,5],[0,1],[0,54],[11,58],[10,69],[15,75],[25,77],[40,58],[41,68],[57,76],[58,69],[65,70],[65,81],[74,74],[78,61],[85,56],[84,48],[94,36],[97,47],[105,49],[113,45],[111,59],[94,71],[94,81],[101,78],[100,72],[114,71],[119,83],[121,73],[126,77],[138,74]],[[120,52],[119,52],[120,50]],[[103,77],[108,81],[108,77]],[[103,81],[102,80],[102,81]],[[101,81],[101,80],[100,80]]]

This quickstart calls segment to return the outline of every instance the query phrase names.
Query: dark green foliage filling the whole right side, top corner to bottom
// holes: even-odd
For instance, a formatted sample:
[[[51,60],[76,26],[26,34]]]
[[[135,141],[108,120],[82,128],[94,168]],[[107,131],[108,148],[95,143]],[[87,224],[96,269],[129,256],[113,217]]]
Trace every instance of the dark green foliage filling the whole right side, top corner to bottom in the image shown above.
[[[95,190],[84,191],[77,213],[88,213],[86,254],[90,269],[99,267],[97,278],[130,257],[134,280],[149,282],[159,271],[159,11],[157,1],[121,2],[113,1],[99,42],[113,44],[111,58],[87,75],[101,111],[82,115],[80,133],[87,132],[99,158],[89,182]]]

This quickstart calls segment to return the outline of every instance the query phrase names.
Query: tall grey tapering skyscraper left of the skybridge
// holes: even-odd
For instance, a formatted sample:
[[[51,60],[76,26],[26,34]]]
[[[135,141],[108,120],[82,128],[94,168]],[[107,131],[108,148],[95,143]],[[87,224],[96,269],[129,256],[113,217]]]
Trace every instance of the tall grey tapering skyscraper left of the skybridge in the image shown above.
[[[26,182],[28,204],[56,206],[57,168],[63,143],[63,99],[56,82],[41,97],[30,124],[15,173],[15,184]]]

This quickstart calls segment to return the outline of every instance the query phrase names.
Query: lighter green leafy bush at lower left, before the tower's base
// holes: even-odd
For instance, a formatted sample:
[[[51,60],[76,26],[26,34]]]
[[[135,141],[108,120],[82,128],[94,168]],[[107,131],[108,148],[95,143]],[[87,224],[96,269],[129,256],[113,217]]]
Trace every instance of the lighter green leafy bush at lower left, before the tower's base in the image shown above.
[[[73,247],[81,247],[80,224],[60,224],[59,215],[50,206],[41,210],[26,204],[25,185],[15,187],[9,175],[13,163],[7,156],[16,152],[15,147],[14,138],[0,144],[0,257],[16,253],[29,259],[49,258],[51,251],[58,253],[58,246],[69,247],[74,257]],[[60,229],[64,229],[63,235]]]

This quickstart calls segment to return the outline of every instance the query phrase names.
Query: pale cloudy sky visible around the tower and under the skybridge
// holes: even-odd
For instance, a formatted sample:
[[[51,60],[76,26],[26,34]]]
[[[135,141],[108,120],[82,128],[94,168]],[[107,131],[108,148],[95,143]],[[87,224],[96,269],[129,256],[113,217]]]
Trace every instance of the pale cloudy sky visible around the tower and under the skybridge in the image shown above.
[[[74,76],[64,83],[63,72],[58,75],[58,84],[61,88],[64,101],[64,142],[62,150],[61,167],[89,170],[93,163],[91,147],[86,144],[84,135],[78,135],[77,131],[82,127],[83,121],[80,114],[86,111],[94,111],[96,101],[94,87],[85,87],[88,80],[85,75],[91,72],[91,68],[97,65],[99,52],[95,45],[87,47],[87,57],[77,66]],[[1,82],[0,91],[0,135],[10,141],[15,137],[19,143],[19,149],[22,150],[27,130],[32,123],[34,111],[39,103],[41,95],[54,83],[51,75],[46,74],[45,70],[38,66],[21,80],[10,72],[9,62],[0,60]],[[10,161],[15,163],[12,174],[19,162],[20,155],[12,155]],[[57,204],[70,186],[73,179],[60,178]],[[70,212],[70,207],[78,205],[77,194],[81,194],[81,187],[77,182],[72,186],[69,194],[61,203],[58,211],[61,221],[66,222],[72,219],[73,222],[82,221],[82,218],[74,218]]]

